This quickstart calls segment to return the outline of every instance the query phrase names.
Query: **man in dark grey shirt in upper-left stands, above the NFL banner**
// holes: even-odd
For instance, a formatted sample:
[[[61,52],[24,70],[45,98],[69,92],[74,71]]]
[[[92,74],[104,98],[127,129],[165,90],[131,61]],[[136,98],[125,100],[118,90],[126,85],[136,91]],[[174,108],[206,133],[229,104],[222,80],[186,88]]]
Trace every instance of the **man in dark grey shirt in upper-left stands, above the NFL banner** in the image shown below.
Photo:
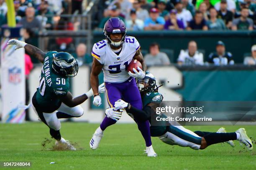
[[[35,18],[35,9],[33,7],[27,7],[26,17],[20,20],[20,24],[23,25],[23,28],[32,30],[34,34],[41,30],[41,23]]]

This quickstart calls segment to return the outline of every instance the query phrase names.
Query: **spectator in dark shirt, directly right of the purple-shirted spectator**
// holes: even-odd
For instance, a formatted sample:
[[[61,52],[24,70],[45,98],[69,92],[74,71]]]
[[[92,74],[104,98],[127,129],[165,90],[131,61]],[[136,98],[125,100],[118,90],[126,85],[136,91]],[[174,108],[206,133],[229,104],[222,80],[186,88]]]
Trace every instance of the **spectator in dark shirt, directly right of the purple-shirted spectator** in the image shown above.
[[[208,30],[202,12],[196,11],[194,20],[189,22],[187,30]]]

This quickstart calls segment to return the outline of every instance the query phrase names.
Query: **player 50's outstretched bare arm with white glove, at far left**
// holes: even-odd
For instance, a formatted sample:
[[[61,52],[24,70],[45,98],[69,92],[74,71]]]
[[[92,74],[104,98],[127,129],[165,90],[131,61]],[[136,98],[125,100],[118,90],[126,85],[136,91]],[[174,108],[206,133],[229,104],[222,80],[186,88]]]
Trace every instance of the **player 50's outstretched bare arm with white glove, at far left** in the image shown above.
[[[38,47],[35,47],[33,45],[27,44],[26,42],[15,40],[15,39],[9,40],[7,45],[16,45],[15,50],[23,47],[25,48],[26,52],[29,55],[36,57],[42,63],[44,62],[45,53],[42,50],[40,50]]]

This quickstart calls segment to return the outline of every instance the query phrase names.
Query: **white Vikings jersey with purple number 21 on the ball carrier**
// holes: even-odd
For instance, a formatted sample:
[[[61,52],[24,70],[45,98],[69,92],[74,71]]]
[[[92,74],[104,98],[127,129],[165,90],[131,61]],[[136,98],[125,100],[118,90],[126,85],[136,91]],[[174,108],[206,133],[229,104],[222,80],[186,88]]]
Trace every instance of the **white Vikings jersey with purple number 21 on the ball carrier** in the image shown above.
[[[117,55],[110,47],[107,40],[102,40],[93,45],[92,56],[103,66],[105,82],[125,82],[130,77],[127,72],[128,64],[133,59],[140,44],[135,37],[125,36],[122,50]]]

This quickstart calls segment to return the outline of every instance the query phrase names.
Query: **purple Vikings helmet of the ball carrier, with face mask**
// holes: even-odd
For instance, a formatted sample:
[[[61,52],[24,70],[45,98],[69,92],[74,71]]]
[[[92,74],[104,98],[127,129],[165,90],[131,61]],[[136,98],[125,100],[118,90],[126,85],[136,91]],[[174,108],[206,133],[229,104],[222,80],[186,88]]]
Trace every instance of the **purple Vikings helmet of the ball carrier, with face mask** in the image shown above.
[[[114,47],[119,47],[123,44],[125,41],[125,35],[126,35],[126,27],[125,23],[118,17],[110,18],[104,25],[104,35],[106,37],[106,40],[108,40],[108,43],[110,45],[113,45]],[[122,40],[119,42],[114,42],[110,39],[110,34],[115,33],[122,33]]]

